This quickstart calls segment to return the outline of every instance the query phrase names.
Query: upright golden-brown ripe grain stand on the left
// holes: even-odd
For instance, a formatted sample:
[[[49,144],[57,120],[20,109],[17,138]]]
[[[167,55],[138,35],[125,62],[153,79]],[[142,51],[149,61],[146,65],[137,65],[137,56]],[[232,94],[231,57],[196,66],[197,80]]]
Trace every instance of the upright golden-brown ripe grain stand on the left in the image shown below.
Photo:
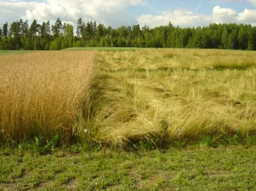
[[[47,51],[0,57],[0,138],[35,136],[65,143],[82,131],[78,119],[94,74],[93,52]]]

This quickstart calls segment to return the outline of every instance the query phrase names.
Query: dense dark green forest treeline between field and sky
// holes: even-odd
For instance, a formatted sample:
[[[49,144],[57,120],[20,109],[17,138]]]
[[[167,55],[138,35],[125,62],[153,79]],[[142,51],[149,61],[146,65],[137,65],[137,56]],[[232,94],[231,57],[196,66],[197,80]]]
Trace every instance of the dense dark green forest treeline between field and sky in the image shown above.
[[[5,23],[0,29],[0,50],[60,50],[68,47],[156,47],[223,48],[256,50],[256,27],[250,24],[210,24],[207,27],[180,28],[171,23],[149,28],[111,28],[95,21],[78,19],[76,32],[71,24],[57,18],[38,24],[34,20]]]

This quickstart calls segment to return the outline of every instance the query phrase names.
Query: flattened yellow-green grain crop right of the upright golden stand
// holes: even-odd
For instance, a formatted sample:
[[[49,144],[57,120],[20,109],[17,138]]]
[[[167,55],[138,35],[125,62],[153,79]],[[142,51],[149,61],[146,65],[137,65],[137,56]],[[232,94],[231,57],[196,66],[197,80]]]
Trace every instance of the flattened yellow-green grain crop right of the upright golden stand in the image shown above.
[[[256,132],[256,53],[225,50],[101,52],[93,141],[217,138]]]

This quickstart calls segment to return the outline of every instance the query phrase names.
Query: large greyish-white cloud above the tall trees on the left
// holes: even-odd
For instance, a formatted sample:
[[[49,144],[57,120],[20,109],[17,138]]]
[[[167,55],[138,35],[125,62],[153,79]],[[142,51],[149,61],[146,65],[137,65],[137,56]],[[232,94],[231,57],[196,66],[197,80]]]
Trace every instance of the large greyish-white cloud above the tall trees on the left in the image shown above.
[[[105,25],[136,24],[136,18],[125,12],[127,6],[145,5],[147,0],[46,0],[26,2],[0,0],[0,23],[20,18],[38,21],[61,20],[75,24],[79,17]]]

